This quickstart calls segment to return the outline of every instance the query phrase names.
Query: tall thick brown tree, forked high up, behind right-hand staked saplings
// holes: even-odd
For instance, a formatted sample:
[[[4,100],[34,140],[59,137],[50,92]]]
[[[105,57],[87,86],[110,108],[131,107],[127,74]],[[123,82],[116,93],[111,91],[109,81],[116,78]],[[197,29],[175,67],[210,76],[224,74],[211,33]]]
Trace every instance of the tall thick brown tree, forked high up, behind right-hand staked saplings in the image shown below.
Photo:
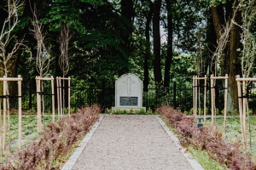
[[[230,95],[228,96],[228,111],[233,111],[238,107],[236,75],[241,74],[241,65],[238,62],[239,52],[237,50],[241,46],[241,29],[233,23],[241,24],[241,13],[237,10],[237,5],[238,3],[235,0],[231,0],[211,7],[213,26],[218,38],[218,44],[224,43],[221,49],[220,63],[222,75],[229,74]],[[225,34],[225,41],[222,41],[221,38]]]

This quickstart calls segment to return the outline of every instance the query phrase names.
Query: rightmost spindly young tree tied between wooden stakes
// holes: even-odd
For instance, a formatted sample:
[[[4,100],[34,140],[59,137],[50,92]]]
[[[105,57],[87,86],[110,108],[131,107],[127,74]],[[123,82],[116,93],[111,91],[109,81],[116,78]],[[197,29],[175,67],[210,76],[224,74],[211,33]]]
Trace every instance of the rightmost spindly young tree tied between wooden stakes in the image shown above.
[[[241,72],[242,77],[251,77],[254,61],[256,57],[256,35],[251,31],[253,23],[256,20],[256,0],[240,0],[239,8],[241,10],[241,20],[242,24],[236,26],[241,27]],[[242,81],[242,96],[247,96],[247,85],[249,82]],[[239,83],[240,84],[240,83]],[[241,93],[241,92],[240,92]],[[241,100],[241,99],[240,99]],[[250,119],[249,119],[249,108],[247,103],[247,98],[243,98],[243,105],[240,105],[240,116],[241,116],[241,131],[243,133],[244,148],[247,148],[247,129],[246,129],[246,114],[247,122],[249,123],[249,133],[250,129]],[[249,135],[251,137],[251,134]],[[251,138],[250,138],[251,145]]]

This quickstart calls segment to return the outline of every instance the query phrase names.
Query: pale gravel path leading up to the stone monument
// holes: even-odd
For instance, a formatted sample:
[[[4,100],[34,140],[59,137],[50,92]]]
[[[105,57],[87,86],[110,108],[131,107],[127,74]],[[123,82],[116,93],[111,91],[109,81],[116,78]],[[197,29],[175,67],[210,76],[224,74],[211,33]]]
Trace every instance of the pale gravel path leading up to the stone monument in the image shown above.
[[[194,169],[155,116],[106,115],[76,169]]]

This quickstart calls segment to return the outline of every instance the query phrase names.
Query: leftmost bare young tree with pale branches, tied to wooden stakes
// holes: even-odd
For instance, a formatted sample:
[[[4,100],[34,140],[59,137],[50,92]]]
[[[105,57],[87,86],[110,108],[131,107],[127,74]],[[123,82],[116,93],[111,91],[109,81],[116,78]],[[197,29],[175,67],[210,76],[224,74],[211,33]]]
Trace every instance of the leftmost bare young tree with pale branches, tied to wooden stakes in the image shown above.
[[[15,26],[17,26],[18,20],[18,11],[22,8],[24,2],[22,0],[8,0],[7,1],[7,8],[6,13],[8,14],[7,18],[3,22],[2,31],[0,32],[0,73],[3,77],[8,77],[8,73],[11,68],[14,66],[14,62],[17,58],[17,51],[21,47],[26,47],[23,43],[23,39],[19,42],[15,39],[15,35],[13,35],[13,31]],[[7,48],[11,48],[7,50]],[[2,94],[9,95],[9,88],[8,83],[4,82],[4,88]],[[1,88],[2,90],[2,88]],[[2,101],[0,100],[0,104]],[[9,118],[9,98],[6,99],[7,103],[7,113],[6,108],[3,108],[3,145],[1,144],[2,150],[5,150],[6,147],[6,135],[7,135],[7,122],[6,122],[6,115],[8,116],[8,132],[9,132],[9,149],[10,149],[10,118]],[[4,104],[5,105],[5,104]],[[1,118],[2,119],[2,118]],[[1,138],[2,138],[2,127],[0,129]],[[2,139],[1,139],[2,140]]]

